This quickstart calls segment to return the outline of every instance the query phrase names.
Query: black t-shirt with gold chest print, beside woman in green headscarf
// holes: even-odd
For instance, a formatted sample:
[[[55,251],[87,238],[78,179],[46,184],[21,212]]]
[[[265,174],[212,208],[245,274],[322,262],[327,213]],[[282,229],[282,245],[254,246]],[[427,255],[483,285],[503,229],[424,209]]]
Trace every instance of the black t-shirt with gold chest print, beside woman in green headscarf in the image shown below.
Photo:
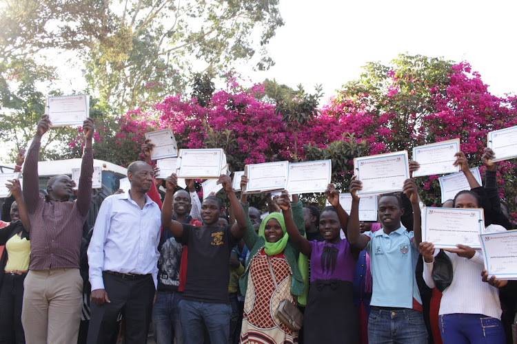
[[[230,252],[237,244],[232,226],[195,227],[183,224],[179,242],[188,246],[187,280],[183,299],[209,303],[230,303]]]

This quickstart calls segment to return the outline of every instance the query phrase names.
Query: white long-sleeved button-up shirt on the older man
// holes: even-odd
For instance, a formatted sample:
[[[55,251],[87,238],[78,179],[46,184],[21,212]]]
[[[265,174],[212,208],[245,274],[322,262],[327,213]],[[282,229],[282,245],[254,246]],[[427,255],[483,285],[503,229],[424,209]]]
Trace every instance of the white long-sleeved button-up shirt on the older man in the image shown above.
[[[143,209],[129,191],[107,197],[88,247],[92,290],[104,289],[103,271],[152,274],[156,287],[160,228],[160,208],[148,195]]]

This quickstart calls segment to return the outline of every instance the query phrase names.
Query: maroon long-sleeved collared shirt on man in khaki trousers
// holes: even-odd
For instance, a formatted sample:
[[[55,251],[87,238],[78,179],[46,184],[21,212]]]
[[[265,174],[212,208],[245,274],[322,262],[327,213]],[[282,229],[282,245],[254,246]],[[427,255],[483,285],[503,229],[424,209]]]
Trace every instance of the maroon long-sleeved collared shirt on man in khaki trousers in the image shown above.
[[[39,195],[40,142],[32,142],[23,166],[23,200],[29,213],[30,270],[79,268],[83,224],[92,200],[93,150],[84,149],[77,200]]]

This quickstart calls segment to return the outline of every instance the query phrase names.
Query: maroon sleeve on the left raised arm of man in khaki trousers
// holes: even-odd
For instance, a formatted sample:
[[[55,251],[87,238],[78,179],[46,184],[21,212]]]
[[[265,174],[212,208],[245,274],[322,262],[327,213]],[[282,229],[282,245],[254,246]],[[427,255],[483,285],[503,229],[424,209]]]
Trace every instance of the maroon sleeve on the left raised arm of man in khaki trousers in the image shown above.
[[[32,141],[23,164],[23,200],[29,214],[34,213],[41,202],[39,197],[38,158],[40,142]]]

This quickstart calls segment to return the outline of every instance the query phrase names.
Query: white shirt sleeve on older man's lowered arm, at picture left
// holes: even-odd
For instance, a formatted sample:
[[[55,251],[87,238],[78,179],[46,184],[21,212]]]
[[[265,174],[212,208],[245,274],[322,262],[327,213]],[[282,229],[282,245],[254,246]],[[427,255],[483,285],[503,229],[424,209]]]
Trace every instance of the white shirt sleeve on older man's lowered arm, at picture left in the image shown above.
[[[92,239],[88,246],[88,272],[92,290],[104,289],[102,270],[104,267],[104,243],[111,224],[113,197],[108,197],[101,204],[95,226],[93,228]]]

